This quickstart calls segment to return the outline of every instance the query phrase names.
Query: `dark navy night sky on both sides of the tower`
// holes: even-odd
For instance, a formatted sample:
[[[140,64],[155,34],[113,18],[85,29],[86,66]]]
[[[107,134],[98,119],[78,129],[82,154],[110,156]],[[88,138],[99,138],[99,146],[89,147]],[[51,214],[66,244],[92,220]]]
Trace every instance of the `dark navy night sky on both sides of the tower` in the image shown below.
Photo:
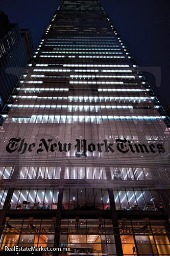
[[[1,0],[10,23],[29,28],[37,46],[60,0]],[[170,1],[101,0],[137,65],[163,107],[170,102]]]

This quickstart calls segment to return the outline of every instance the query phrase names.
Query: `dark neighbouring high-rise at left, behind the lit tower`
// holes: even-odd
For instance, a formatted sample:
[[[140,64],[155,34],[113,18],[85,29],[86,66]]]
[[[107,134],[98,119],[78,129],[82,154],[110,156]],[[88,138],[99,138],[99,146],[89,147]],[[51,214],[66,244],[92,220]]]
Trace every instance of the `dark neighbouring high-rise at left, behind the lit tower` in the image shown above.
[[[0,11],[0,111],[31,58],[33,47],[30,30],[20,33],[18,25],[10,24],[7,14]]]

